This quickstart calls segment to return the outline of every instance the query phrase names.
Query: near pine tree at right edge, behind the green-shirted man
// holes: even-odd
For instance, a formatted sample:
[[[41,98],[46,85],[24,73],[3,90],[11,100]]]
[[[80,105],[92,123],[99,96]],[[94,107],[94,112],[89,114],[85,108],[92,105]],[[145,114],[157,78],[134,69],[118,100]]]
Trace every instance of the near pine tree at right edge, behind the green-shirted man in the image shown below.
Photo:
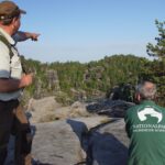
[[[158,37],[155,37],[157,43],[156,45],[148,43],[146,48],[150,56],[158,57],[158,59],[146,63],[140,77],[157,85],[157,102],[165,106],[165,21],[156,20],[155,24],[158,30]]]

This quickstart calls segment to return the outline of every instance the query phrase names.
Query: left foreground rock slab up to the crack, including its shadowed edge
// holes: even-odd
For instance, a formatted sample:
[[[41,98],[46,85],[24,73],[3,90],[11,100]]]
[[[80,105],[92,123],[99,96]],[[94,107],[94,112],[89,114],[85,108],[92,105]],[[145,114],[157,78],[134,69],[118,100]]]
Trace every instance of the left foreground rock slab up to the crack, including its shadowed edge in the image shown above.
[[[88,128],[108,120],[106,117],[67,119],[35,124],[32,153],[35,160],[52,165],[74,165],[85,162]],[[94,122],[95,121],[95,122]]]

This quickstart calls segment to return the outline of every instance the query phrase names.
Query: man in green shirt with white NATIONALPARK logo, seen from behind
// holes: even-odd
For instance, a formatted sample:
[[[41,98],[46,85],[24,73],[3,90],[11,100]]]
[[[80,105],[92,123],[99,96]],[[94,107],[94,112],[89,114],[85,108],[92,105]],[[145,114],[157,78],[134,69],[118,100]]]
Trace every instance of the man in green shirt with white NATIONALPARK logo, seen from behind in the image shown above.
[[[125,114],[130,138],[128,165],[165,165],[165,109],[155,105],[156,86],[144,81],[136,88],[140,105]]]

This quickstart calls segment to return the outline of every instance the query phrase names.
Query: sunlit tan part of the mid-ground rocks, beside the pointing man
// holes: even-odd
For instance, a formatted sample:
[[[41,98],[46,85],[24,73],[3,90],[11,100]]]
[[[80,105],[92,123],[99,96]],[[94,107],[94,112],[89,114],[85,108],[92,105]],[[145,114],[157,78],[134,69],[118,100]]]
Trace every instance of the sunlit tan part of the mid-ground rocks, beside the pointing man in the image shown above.
[[[54,97],[31,99],[26,112],[30,114],[31,123],[94,116],[87,111],[86,103],[76,101],[72,106],[62,107]]]

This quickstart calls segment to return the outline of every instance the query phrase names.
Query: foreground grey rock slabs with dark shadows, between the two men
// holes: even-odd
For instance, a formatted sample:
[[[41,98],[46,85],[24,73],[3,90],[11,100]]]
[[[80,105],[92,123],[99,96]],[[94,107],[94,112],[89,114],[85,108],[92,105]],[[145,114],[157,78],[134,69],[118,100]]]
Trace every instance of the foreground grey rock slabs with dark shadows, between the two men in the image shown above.
[[[43,165],[125,165],[129,140],[122,119],[91,117],[37,123],[32,155]],[[13,146],[10,146],[13,150]],[[12,151],[13,152],[13,151]],[[9,153],[13,158],[12,153]],[[13,165],[8,160],[6,165]]]

